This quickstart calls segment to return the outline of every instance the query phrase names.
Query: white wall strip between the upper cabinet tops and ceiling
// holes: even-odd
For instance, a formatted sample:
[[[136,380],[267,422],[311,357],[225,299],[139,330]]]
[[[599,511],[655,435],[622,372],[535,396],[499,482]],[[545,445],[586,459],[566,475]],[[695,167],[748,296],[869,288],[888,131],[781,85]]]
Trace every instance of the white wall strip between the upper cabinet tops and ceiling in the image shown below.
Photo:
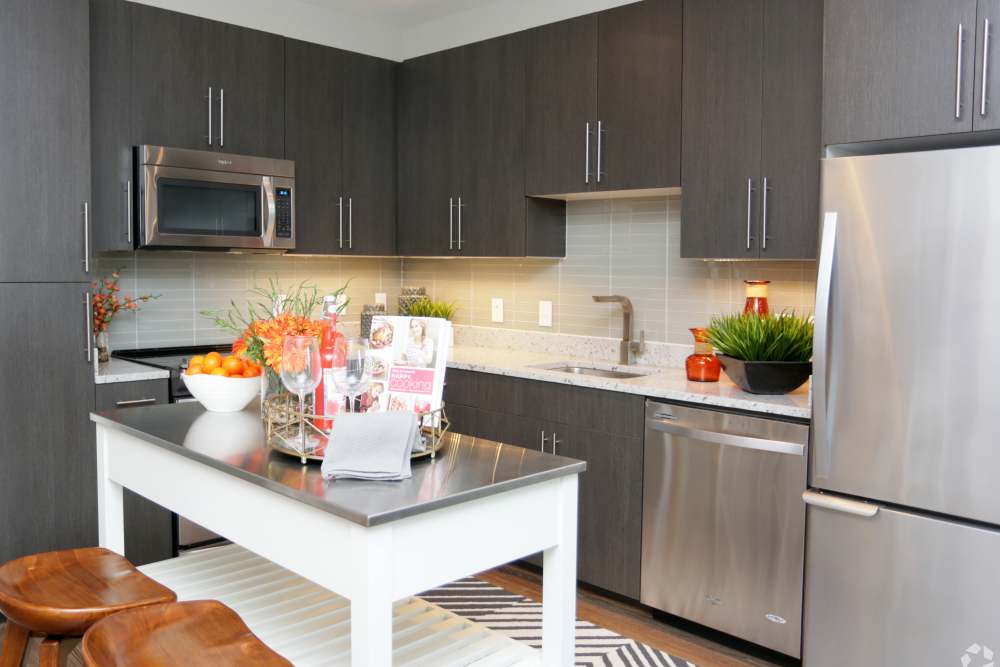
[[[636,0],[495,0],[407,26],[336,12],[302,0],[132,1],[357,53],[406,60]]]

